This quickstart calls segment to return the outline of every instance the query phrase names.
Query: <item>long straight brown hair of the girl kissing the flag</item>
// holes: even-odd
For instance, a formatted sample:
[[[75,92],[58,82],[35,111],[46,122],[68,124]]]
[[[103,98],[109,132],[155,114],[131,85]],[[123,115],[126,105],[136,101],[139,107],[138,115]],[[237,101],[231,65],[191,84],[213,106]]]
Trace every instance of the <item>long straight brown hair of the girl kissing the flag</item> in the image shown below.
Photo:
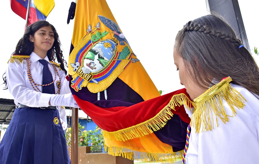
[[[188,74],[201,88],[230,76],[231,83],[259,95],[259,68],[233,29],[218,14],[189,21],[176,36]],[[191,67],[190,67],[191,65]],[[216,82],[215,82],[216,83]]]

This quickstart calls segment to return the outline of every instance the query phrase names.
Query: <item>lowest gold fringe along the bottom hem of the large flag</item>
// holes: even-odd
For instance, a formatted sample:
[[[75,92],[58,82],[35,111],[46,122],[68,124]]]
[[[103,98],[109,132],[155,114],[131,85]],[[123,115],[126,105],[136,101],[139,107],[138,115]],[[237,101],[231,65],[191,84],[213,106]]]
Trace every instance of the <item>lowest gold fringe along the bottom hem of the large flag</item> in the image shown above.
[[[143,161],[148,163],[161,162],[161,163],[174,163],[176,159],[181,159],[184,150],[173,153],[148,153],[130,150],[123,147],[108,147],[104,144],[105,151],[109,155],[122,156],[130,160]],[[108,149],[108,150],[107,150]]]

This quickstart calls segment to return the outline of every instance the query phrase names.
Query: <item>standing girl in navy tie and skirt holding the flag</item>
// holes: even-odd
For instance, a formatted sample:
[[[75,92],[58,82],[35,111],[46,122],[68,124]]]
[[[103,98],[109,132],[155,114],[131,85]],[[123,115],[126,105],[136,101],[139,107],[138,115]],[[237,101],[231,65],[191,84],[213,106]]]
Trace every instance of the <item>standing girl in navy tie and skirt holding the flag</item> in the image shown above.
[[[0,163],[71,163],[56,108],[78,107],[64,63],[52,24],[38,21],[26,28],[3,76],[18,108],[0,143]]]

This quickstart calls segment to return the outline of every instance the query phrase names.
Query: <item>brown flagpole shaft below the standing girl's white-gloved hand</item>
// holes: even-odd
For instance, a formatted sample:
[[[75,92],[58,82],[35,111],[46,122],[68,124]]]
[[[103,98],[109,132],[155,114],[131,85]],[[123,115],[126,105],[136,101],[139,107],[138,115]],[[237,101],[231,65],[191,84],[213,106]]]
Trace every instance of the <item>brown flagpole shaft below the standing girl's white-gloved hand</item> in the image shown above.
[[[78,108],[72,108],[71,164],[78,164]]]

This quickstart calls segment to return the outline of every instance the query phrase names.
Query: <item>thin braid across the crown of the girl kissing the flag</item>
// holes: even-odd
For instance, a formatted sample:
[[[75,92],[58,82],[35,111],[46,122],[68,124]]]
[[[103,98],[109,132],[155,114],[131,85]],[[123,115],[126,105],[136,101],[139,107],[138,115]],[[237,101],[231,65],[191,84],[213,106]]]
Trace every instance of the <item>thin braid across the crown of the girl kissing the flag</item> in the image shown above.
[[[226,39],[228,41],[230,41],[231,43],[234,43],[235,45],[242,45],[241,41],[238,39],[238,38],[233,38],[227,34],[225,34],[224,32],[221,32],[219,30],[210,30],[210,27],[209,26],[203,26],[201,24],[195,24],[195,23],[192,23],[192,21],[189,21],[187,22],[185,25],[184,25],[184,28],[186,28],[186,32],[187,31],[200,31],[200,32],[203,32],[205,34],[210,34],[210,35],[214,35],[216,37],[220,37],[222,39]]]

